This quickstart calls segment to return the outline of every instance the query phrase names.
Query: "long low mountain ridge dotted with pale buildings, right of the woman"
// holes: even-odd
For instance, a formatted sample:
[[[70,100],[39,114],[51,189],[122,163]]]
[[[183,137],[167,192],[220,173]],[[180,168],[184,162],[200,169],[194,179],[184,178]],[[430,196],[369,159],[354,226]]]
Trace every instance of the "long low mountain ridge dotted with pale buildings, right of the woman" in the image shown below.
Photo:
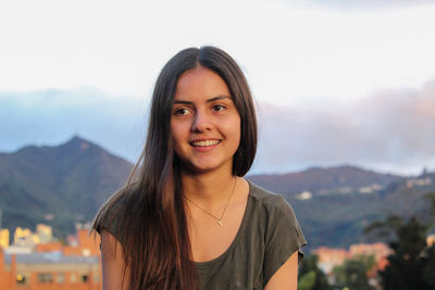
[[[382,241],[374,235],[364,235],[364,228],[391,214],[406,218],[417,215],[427,220],[430,204],[424,196],[435,192],[435,174],[402,177],[355,166],[249,179],[290,202],[311,249]]]

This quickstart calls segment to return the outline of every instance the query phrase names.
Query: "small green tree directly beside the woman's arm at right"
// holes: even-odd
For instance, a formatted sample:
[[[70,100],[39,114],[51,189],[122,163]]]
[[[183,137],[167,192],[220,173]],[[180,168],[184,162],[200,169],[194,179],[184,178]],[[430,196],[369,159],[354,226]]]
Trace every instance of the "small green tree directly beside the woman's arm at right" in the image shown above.
[[[331,290],[325,274],[318,266],[316,255],[306,256],[299,270],[298,290]]]

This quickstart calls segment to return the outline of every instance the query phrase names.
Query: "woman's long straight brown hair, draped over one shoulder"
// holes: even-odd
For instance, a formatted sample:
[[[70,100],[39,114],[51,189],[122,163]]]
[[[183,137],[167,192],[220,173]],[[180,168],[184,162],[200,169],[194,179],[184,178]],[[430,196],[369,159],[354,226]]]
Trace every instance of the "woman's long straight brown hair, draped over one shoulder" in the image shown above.
[[[171,113],[179,76],[201,65],[228,86],[240,114],[233,175],[244,176],[257,150],[257,121],[248,83],[236,62],[214,47],[185,49],[162,68],[152,96],[145,149],[126,186],[101,207],[92,229],[116,223],[128,289],[198,289],[187,231],[181,164],[174,154]],[[134,182],[132,181],[134,180]],[[120,205],[121,204],[121,205]],[[124,269],[125,274],[125,269]]]

